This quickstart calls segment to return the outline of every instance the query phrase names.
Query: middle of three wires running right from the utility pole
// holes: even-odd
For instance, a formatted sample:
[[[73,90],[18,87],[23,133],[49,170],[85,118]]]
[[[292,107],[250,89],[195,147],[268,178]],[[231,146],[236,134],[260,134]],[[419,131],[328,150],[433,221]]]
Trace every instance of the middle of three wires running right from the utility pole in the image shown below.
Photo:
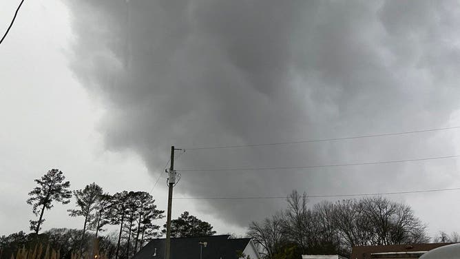
[[[322,168],[322,167],[348,167],[348,166],[354,166],[354,165],[381,165],[381,164],[392,164],[392,163],[406,163],[406,162],[437,160],[437,159],[457,158],[457,157],[460,157],[460,155],[436,156],[436,157],[429,157],[429,158],[415,158],[415,159],[406,159],[406,160],[388,160],[388,161],[377,161],[377,162],[367,162],[367,163],[332,164],[332,165],[306,165],[306,166],[293,166],[293,167],[237,167],[237,168],[216,168],[216,169],[178,169],[178,171],[182,171],[182,172],[218,172],[218,171],[313,169],[313,168]]]

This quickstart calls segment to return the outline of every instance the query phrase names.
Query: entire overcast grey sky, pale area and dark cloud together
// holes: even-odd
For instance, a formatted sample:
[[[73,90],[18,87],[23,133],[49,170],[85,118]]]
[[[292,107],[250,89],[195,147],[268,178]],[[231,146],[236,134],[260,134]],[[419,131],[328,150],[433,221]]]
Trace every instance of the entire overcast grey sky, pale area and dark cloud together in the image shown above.
[[[17,1],[0,2],[3,33]],[[0,45],[0,235],[28,230],[34,178],[72,189],[176,197],[363,194],[460,187],[460,130],[266,147],[460,126],[454,1],[25,1]],[[180,169],[183,169],[181,171]],[[459,231],[459,191],[389,196],[433,236]],[[310,204],[320,198],[311,198]],[[334,200],[334,199],[330,199]],[[43,229],[82,225],[56,205]],[[282,199],[174,200],[218,233],[244,234]],[[8,222],[8,223],[6,223]],[[163,225],[163,222],[158,222]]]

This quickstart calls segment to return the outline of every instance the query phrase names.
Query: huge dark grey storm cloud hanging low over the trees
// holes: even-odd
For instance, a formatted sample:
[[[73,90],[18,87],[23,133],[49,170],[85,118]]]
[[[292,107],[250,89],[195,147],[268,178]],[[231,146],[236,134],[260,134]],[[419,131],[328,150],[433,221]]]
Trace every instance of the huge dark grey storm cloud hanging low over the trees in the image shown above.
[[[441,1],[68,1],[72,68],[101,98],[109,149],[152,174],[169,146],[273,143],[441,127],[459,108],[459,12]],[[178,168],[322,165],[452,154],[446,134],[189,150]],[[183,172],[189,196],[337,194],[419,187],[453,161],[256,172]],[[126,176],[129,177],[129,173]],[[390,180],[388,180],[390,179]],[[424,180],[425,179],[425,180]],[[180,206],[183,201],[176,204]],[[282,204],[199,201],[246,225]]]

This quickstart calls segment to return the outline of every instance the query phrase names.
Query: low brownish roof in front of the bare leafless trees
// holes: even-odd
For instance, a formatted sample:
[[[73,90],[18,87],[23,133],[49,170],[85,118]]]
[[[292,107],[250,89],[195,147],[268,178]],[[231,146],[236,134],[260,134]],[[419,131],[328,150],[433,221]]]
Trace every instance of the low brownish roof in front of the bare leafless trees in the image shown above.
[[[424,244],[413,244],[413,245],[367,245],[367,246],[356,246],[351,250],[350,259],[370,259],[370,258],[386,258],[390,254],[398,254],[399,257],[403,258],[404,254],[407,256],[418,255],[420,256],[426,251],[442,247],[444,245],[450,245],[452,243],[424,243]],[[418,257],[417,256],[417,257]]]

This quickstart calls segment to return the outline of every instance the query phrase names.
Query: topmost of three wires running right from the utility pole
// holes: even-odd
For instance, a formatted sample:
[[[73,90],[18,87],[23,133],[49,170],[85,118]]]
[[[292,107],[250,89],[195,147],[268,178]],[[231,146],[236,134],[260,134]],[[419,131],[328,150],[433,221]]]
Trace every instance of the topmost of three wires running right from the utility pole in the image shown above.
[[[393,132],[393,133],[372,134],[372,135],[363,135],[363,136],[348,136],[344,138],[320,138],[320,139],[313,139],[313,140],[306,140],[306,141],[289,141],[289,142],[261,143],[261,144],[248,144],[248,145],[222,145],[222,146],[214,146],[214,147],[190,147],[190,148],[184,148],[184,149],[198,150],[198,149],[227,149],[227,148],[240,148],[240,147],[266,147],[266,146],[273,146],[273,145],[291,145],[291,144],[315,143],[315,142],[326,142],[326,141],[344,141],[347,139],[356,139],[356,138],[375,138],[375,137],[381,137],[381,136],[397,136],[397,135],[415,134],[415,133],[422,133],[422,132],[436,132],[440,130],[454,130],[454,129],[459,129],[459,128],[460,126],[440,127],[437,129],[414,130],[411,132]]]

